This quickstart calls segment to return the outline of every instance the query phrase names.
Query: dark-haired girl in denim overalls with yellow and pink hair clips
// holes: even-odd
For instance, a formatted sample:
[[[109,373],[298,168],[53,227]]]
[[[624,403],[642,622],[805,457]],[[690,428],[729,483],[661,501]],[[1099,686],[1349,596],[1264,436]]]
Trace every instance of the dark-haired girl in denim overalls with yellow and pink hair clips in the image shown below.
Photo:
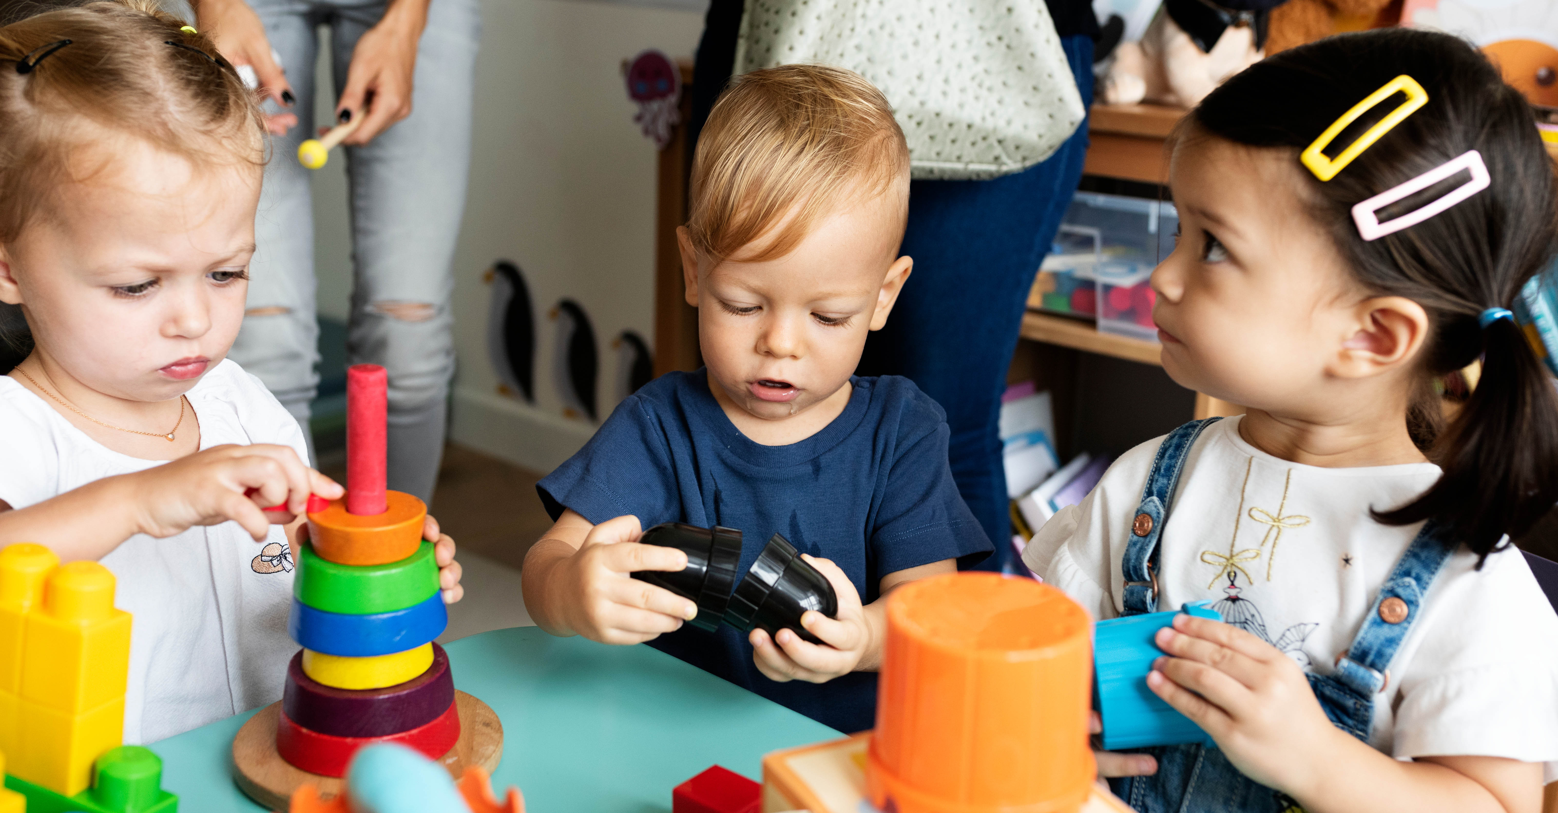
[[[1217,746],[1100,773],[1144,813],[1536,811],[1558,617],[1502,553],[1558,500],[1507,310],[1558,238],[1532,111],[1455,37],[1338,36],[1212,92],[1170,179],[1164,368],[1248,411],[1131,450],[1024,559],[1100,618],[1214,601],[1147,685]],[[1446,425],[1433,382],[1479,358]]]

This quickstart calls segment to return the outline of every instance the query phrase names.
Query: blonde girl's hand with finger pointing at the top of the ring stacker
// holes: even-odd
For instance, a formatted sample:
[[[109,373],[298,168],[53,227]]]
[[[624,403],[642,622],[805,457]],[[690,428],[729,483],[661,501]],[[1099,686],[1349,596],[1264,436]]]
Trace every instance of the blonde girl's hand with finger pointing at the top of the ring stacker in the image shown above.
[[[290,447],[270,444],[217,445],[123,477],[132,487],[136,531],[159,539],[234,520],[263,542],[271,525],[302,516],[310,494],[333,500],[346,492]]]

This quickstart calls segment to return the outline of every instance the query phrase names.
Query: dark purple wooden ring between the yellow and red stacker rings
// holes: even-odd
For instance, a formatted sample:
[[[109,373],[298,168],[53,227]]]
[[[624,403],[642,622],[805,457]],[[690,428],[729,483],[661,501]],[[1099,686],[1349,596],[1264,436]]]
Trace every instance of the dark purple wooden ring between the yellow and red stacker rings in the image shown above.
[[[282,713],[330,737],[385,737],[436,720],[455,702],[455,679],[444,648],[433,645],[433,665],[404,684],[351,690],[324,685],[302,671],[302,651],[287,665]]]

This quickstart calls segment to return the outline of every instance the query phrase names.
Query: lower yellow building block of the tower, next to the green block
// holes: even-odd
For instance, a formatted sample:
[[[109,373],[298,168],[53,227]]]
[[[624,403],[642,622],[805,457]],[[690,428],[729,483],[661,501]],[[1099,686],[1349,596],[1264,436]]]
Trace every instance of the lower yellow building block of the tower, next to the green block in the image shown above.
[[[75,796],[92,787],[92,763],[125,735],[125,698],[81,715],[22,701],[20,738],[26,748],[11,755],[11,776]]]

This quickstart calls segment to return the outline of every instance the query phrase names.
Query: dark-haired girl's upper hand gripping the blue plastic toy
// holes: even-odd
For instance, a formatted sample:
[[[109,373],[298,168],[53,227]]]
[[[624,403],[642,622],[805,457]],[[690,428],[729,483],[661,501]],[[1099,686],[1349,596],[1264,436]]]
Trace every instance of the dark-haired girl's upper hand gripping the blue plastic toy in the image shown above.
[[[1348,737],[1326,718],[1304,670],[1243,629],[1181,614],[1156,643],[1173,657],[1153,663],[1147,685],[1262,785],[1299,787],[1327,743]]]

